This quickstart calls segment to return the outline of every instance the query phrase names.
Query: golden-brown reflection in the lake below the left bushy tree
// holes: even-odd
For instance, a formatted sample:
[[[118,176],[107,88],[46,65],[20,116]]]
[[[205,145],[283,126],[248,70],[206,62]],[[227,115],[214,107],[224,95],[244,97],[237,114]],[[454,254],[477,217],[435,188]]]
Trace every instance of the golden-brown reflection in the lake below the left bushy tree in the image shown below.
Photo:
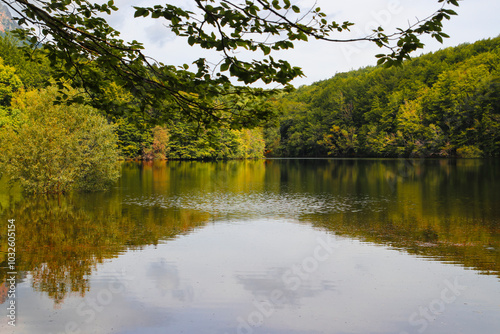
[[[104,260],[156,245],[207,220],[206,214],[186,210],[134,219],[122,210],[119,196],[100,199],[97,205],[76,195],[44,196],[25,199],[8,210],[8,216],[18,217],[17,270],[29,272],[33,289],[45,292],[56,305],[69,294],[83,297],[93,269]],[[6,246],[2,242],[2,251]],[[2,260],[0,282],[7,272],[7,258]]]

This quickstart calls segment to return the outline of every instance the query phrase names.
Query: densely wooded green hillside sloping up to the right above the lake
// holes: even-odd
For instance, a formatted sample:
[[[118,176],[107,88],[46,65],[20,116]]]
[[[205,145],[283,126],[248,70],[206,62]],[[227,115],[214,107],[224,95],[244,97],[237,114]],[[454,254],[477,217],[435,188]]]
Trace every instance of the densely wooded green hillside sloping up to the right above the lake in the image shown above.
[[[500,37],[337,74],[276,103],[268,156],[498,156]]]

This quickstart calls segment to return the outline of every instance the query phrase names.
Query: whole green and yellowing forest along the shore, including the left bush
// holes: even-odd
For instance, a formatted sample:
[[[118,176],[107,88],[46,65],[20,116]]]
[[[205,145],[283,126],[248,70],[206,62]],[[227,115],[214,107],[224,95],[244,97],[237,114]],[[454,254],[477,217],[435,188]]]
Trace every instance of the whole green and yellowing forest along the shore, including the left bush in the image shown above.
[[[1,160],[30,191],[103,188],[119,159],[500,153],[500,37],[282,91],[258,102],[272,117],[250,128],[190,121],[167,102],[168,117],[151,116],[114,82],[96,103],[20,45],[0,39]]]

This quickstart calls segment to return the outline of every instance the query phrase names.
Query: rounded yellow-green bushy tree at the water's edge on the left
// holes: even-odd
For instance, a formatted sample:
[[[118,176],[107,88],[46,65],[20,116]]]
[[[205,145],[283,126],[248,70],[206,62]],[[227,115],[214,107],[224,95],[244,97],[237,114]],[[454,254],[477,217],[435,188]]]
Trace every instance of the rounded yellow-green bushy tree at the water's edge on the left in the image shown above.
[[[119,176],[114,126],[89,106],[54,104],[57,96],[51,87],[13,99],[23,121],[0,129],[3,169],[28,192],[107,188]]]

